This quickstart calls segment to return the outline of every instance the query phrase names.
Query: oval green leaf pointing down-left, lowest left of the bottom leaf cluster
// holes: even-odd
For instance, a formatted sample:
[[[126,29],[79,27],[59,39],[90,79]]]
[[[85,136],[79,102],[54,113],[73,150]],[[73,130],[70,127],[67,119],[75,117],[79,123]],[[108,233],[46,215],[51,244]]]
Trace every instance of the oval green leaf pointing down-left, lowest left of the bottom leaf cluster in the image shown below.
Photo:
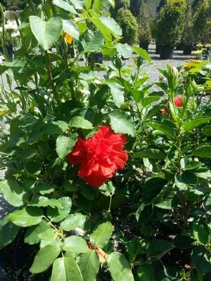
[[[40,249],[34,257],[30,272],[33,274],[44,272],[51,266],[59,254],[60,249],[53,245],[47,245]]]

